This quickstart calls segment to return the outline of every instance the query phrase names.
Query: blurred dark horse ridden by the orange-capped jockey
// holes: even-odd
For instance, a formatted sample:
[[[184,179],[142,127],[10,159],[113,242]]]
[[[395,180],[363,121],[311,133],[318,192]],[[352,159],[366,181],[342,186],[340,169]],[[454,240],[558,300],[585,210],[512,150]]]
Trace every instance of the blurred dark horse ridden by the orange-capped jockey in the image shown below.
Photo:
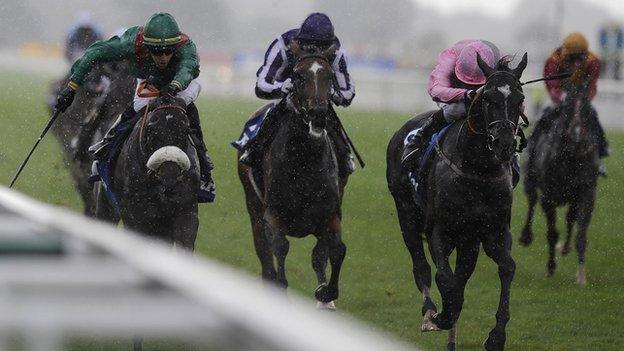
[[[556,208],[569,205],[566,216],[567,236],[560,249],[563,255],[569,253],[576,224],[576,280],[578,284],[585,285],[587,227],[594,209],[599,168],[599,135],[591,127],[589,116],[596,111],[591,106],[587,91],[581,90],[578,94],[569,94],[560,106],[547,113],[557,116],[548,133],[533,134],[529,138],[529,162],[524,181],[529,209],[519,242],[528,246],[533,240],[531,226],[539,191],[548,222],[547,274],[552,276],[557,265],[555,246],[559,240]]]

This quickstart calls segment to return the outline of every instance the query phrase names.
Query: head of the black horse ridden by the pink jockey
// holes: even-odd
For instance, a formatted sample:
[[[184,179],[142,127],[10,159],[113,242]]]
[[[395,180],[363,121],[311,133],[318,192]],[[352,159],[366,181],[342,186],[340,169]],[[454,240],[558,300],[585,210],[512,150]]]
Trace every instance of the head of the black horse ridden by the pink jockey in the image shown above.
[[[480,133],[486,137],[487,148],[500,162],[509,162],[516,150],[518,121],[522,114],[524,93],[520,76],[527,65],[527,54],[514,69],[507,59],[489,67],[477,55],[477,63],[487,77],[477,99],[481,105]],[[470,122],[470,121],[469,121]]]

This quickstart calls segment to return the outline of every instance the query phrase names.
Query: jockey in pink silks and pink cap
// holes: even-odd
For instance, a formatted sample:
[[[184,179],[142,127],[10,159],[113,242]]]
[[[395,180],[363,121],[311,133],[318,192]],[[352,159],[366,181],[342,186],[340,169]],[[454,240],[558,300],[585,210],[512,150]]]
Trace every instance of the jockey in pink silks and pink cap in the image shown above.
[[[401,162],[412,170],[420,151],[431,136],[447,123],[464,118],[476,89],[486,78],[477,65],[477,53],[490,67],[496,66],[501,55],[498,48],[485,40],[462,40],[442,51],[438,63],[429,76],[427,91],[440,110],[425,121],[405,145]]]

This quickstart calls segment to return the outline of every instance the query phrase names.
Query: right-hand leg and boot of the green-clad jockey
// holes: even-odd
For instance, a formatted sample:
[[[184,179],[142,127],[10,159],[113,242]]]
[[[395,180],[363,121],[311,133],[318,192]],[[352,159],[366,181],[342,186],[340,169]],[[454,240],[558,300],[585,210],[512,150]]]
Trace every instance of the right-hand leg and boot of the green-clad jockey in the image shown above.
[[[208,156],[208,149],[204,142],[204,133],[202,132],[199,122],[199,111],[194,103],[190,103],[186,107],[186,114],[189,119],[191,128],[191,140],[197,152],[197,160],[199,161],[199,202],[213,202],[216,197],[216,188],[212,179],[212,170],[214,164]]]

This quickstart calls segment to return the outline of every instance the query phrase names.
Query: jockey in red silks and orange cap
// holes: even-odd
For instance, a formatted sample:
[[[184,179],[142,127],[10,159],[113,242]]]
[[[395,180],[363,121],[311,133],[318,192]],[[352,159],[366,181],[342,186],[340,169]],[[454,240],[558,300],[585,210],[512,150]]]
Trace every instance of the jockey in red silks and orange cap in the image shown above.
[[[546,89],[550,95],[555,108],[544,111],[543,116],[538,120],[533,130],[533,135],[538,136],[545,133],[551,126],[557,113],[556,107],[565,100],[566,95],[583,93],[585,90],[589,99],[596,96],[596,83],[600,76],[600,60],[589,51],[587,39],[581,33],[570,33],[563,44],[557,48],[546,60],[544,64],[544,76],[560,73],[572,73],[572,77],[564,80],[547,80]],[[598,114],[592,107],[592,113],[588,116],[591,128],[598,132],[598,153],[601,158],[609,156],[609,144],[604,134],[604,130],[598,120]],[[599,172],[606,175],[606,166],[601,161]]]

